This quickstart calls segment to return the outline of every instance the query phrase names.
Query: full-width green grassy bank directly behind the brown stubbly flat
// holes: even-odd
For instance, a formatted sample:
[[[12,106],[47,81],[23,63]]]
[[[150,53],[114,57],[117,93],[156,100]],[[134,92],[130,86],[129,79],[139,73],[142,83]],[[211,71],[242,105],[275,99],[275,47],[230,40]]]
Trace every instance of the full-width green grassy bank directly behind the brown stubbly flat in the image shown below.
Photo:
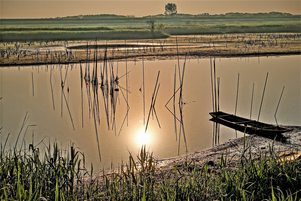
[[[137,27],[7,27],[0,29],[1,42],[93,40],[93,39],[157,39],[169,35],[225,33],[301,33],[301,23],[167,25],[150,32],[146,26]],[[168,35],[169,34],[169,35]]]

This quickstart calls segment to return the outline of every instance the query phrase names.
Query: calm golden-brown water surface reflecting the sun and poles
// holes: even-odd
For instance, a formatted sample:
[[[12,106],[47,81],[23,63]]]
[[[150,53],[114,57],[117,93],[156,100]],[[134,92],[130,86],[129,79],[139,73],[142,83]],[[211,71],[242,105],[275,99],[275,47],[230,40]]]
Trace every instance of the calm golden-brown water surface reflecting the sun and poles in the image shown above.
[[[276,115],[277,122],[300,126],[300,55],[216,58],[215,62],[216,77],[220,79],[221,111],[235,113],[239,73],[236,114],[250,118],[254,83],[251,118],[257,120],[268,73],[259,121],[276,124],[274,115],[285,86]],[[181,77],[183,64],[184,60],[180,60]],[[46,145],[49,140],[56,140],[63,148],[71,140],[84,151],[87,165],[92,162],[94,170],[110,168],[111,162],[116,165],[121,163],[121,159],[126,161],[129,152],[136,155],[143,143],[160,158],[178,155],[178,148],[180,154],[185,154],[186,145],[188,152],[213,146],[213,122],[209,121],[209,112],[213,111],[210,59],[186,60],[182,90],[183,100],[187,103],[182,111],[186,145],[181,131],[180,146],[180,122],[176,120],[176,135],[173,116],[175,65],[177,90],[180,86],[177,60],[144,61],[144,90],[142,61],[127,62],[127,66],[125,62],[118,62],[118,72],[117,62],[113,62],[114,76],[117,74],[120,77],[119,86],[116,87],[119,91],[113,91],[113,96],[109,94],[110,89],[106,91],[107,85],[104,90],[100,84],[97,89],[92,83],[87,85],[81,79],[80,64],[0,68],[1,143],[3,145],[8,133],[11,133],[6,146],[15,145],[27,112],[26,119],[29,118],[20,133],[19,146],[24,134],[26,148],[32,140],[37,144],[45,136],[47,138],[43,142]],[[100,66],[103,69],[103,62],[98,63],[99,83]],[[108,62],[109,85],[110,66]],[[85,67],[86,64],[82,64],[83,75]],[[128,77],[123,76],[126,68],[130,71]],[[92,69],[93,63],[90,64],[91,75]],[[150,112],[159,71],[160,87],[155,92],[155,110]],[[61,87],[62,80],[64,90]],[[170,98],[172,100],[166,105]],[[180,119],[178,102],[179,91],[175,96],[175,113]],[[144,136],[149,112],[147,135]],[[243,135],[237,131],[237,137]],[[220,126],[220,143],[235,137],[235,130]]]

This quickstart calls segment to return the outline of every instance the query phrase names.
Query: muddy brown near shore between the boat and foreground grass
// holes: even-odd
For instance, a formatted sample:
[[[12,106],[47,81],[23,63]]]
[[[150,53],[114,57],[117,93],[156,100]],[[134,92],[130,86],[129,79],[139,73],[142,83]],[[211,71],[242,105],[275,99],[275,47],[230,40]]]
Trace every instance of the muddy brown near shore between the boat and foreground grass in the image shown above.
[[[293,129],[293,131],[281,134],[275,138],[263,137],[256,134],[246,136],[245,146],[244,137],[239,137],[236,139],[230,139],[226,142],[219,143],[212,147],[208,147],[199,151],[189,152],[184,155],[176,155],[166,159],[156,159],[157,160],[157,176],[160,177],[161,172],[163,173],[173,173],[175,166],[178,168],[185,167],[185,162],[187,164],[194,161],[195,165],[204,165],[208,163],[209,169],[214,168],[214,164],[219,163],[221,160],[222,153],[227,152],[227,157],[230,160],[230,167],[234,167],[240,160],[240,157],[244,151],[244,148],[251,146],[251,157],[255,158],[258,153],[261,152],[262,155],[268,156],[270,154],[270,149],[273,149],[275,153],[293,151],[301,149],[301,126],[287,126],[279,125],[287,128]],[[135,157],[134,157],[135,160]],[[94,180],[102,181],[103,175],[110,175],[113,172],[118,173],[120,169],[113,169],[108,171],[101,171],[92,176]],[[86,177],[90,180],[91,177]]]

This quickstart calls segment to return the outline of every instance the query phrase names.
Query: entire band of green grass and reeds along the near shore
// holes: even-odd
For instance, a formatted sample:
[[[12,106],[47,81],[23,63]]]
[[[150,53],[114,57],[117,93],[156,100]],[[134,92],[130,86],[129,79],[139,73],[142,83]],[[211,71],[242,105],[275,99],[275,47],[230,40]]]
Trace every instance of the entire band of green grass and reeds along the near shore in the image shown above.
[[[226,150],[213,166],[191,161],[165,170],[144,146],[137,161],[130,154],[119,169],[96,177],[73,146],[63,151],[54,143],[43,154],[33,145],[1,150],[1,200],[301,199],[301,161],[278,162],[273,145],[268,156],[252,158],[251,147],[244,146],[235,162]]]

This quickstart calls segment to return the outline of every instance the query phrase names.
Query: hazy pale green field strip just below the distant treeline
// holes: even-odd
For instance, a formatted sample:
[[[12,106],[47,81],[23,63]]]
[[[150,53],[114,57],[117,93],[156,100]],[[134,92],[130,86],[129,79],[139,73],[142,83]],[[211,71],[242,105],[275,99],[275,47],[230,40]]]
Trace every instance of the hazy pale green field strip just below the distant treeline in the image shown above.
[[[181,15],[181,14],[178,14]],[[96,27],[96,26],[144,26],[145,20],[154,18],[163,24],[263,24],[300,22],[300,16],[194,16],[194,17],[163,17],[146,16],[134,18],[56,18],[56,19],[0,19],[0,27]],[[236,15],[236,14],[234,14]]]

